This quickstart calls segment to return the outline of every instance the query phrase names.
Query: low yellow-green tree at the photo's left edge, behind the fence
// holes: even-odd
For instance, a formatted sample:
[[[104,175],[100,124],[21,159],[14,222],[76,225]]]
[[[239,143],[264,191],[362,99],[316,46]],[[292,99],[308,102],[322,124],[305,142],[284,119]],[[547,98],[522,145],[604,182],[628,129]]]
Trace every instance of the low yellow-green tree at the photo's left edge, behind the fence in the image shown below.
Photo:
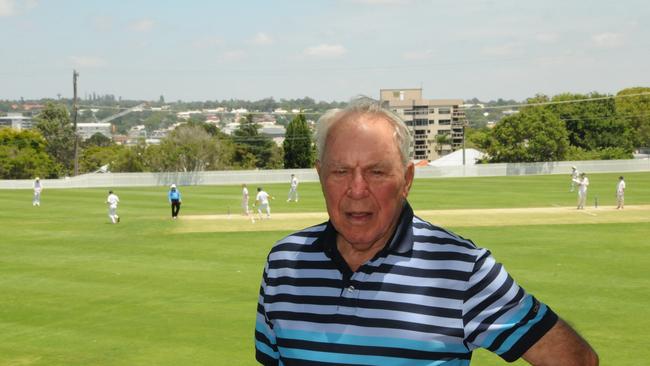
[[[61,167],[46,152],[38,131],[0,128],[0,178],[56,178]]]

